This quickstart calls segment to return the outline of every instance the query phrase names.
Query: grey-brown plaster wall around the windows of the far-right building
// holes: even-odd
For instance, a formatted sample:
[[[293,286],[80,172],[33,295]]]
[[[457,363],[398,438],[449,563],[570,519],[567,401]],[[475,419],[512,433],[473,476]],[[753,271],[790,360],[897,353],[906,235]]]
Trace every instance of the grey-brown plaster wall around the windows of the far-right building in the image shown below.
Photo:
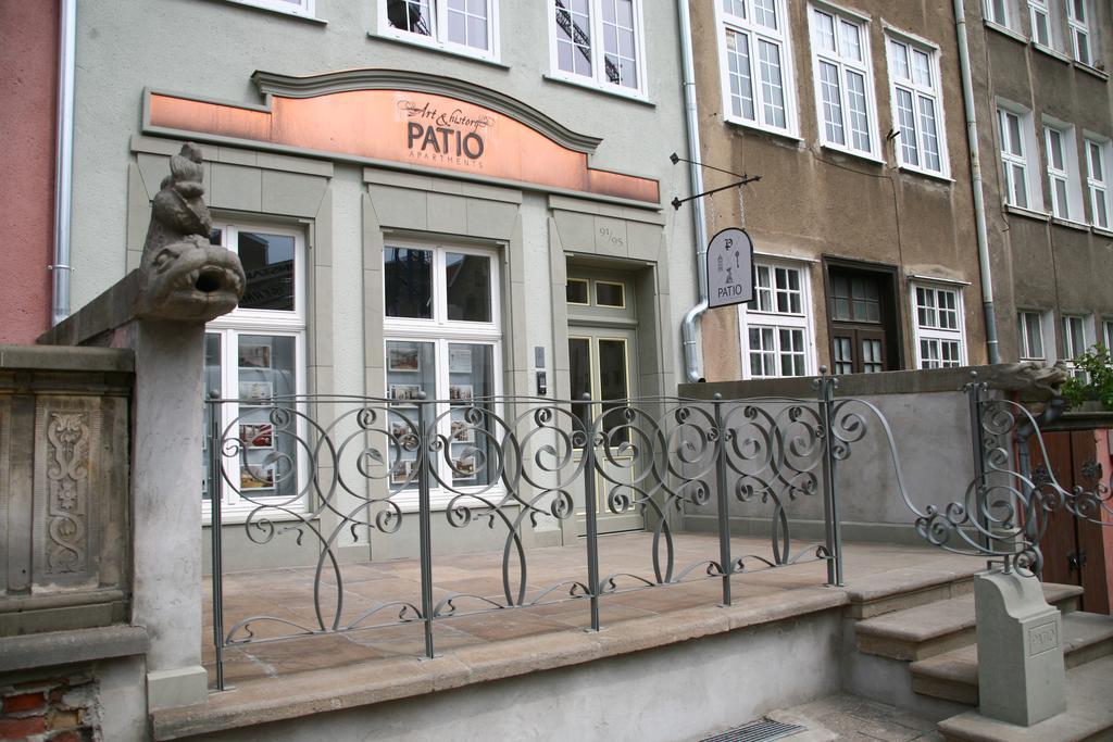
[[[983,22],[982,3],[966,3],[978,142],[985,182],[986,216],[993,256],[994,303],[1002,360],[1018,358],[1016,335],[1021,309],[1050,313],[1053,320],[1045,329],[1047,358],[1062,358],[1064,313],[1113,316],[1113,231],[1092,226],[1092,208],[1086,194],[1086,155],[1083,132],[1113,137],[1113,86],[1105,70],[1072,63],[1062,51],[1047,52],[1031,42],[1031,19],[1025,3],[1011,3],[1015,28],[1002,29]],[[1109,3],[1090,3],[1091,44],[1094,58],[1107,68],[1113,58],[1113,11]],[[1020,10],[1020,12],[1016,12]],[[1053,24],[1065,29],[1064,3],[1051,3]],[[1058,44],[1067,37],[1060,31]],[[1001,161],[1001,133],[997,126],[997,100],[1004,99],[1032,111],[1036,151],[1028,158],[1036,169],[1042,192],[1042,208],[1031,210],[1005,206],[1006,192]],[[1050,186],[1046,177],[1044,116],[1075,128],[1068,160],[1080,168],[1084,212],[1074,224],[1052,219]],[[1031,189],[1030,189],[1031,190]],[[1031,196],[1030,196],[1031,198]],[[1099,333],[1100,333],[1099,325]],[[1097,336],[1101,339],[1101,336]]]

